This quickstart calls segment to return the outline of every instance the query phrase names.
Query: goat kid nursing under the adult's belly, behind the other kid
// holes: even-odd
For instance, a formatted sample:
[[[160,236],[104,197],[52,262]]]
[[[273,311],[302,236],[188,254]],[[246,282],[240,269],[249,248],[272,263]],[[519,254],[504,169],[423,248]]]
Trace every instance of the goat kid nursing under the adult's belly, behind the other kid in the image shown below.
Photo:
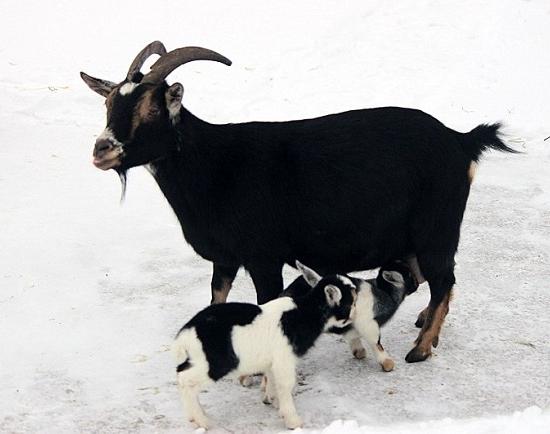
[[[401,261],[393,261],[381,267],[375,279],[359,279],[339,276],[357,288],[357,303],[352,324],[344,328],[330,328],[330,333],[341,334],[351,347],[355,358],[366,356],[361,338],[369,344],[376,360],[386,372],[393,370],[395,363],[380,342],[380,327],[386,324],[397,311],[407,295],[418,288],[411,269]],[[311,291],[315,280],[300,276],[283,292],[283,296],[303,297]]]

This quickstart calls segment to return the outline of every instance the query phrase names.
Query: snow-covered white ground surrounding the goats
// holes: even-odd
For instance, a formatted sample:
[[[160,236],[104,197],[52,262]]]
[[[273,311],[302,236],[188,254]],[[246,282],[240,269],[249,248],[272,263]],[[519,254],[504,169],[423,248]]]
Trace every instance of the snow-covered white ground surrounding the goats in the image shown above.
[[[233,60],[171,76],[211,122],[380,105],[459,131],[504,121],[525,153],[480,166],[434,357],[403,360],[422,287],[383,331],[394,372],[324,336],[300,367],[296,403],[306,428],[326,433],[550,432],[549,20],[544,0],[3,0],[0,432],[192,430],[167,348],[208,303],[211,265],[143,169],[119,206],[115,174],[91,164],[103,102],[78,77],[120,80],[154,39]],[[242,272],[230,299],[255,299]],[[214,433],[283,429],[257,387],[223,381],[202,401]]]

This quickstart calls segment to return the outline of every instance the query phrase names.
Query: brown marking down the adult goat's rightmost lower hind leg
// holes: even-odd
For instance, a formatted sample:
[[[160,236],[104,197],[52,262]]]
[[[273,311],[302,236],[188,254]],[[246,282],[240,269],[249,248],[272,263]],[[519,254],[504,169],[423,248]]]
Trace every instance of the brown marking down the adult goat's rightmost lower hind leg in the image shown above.
[[[432,354],[432,346],[436,347],[439,343],[439,333],[441,332],[443,321],[449,312],[450,300],[451,292],[443,297],[443,300],[441,300],[441,303],[435,309],[429,308],[422,330],[420,330],[420,334],[415,341],[416,346],[405,358],[407,362],[421,362]]]

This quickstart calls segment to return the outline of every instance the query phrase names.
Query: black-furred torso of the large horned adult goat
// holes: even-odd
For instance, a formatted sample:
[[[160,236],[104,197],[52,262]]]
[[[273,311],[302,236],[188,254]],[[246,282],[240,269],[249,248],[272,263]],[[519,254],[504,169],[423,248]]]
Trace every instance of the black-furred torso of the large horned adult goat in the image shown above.
[[[215,126],[184,111],[174,140],[181,151],[156,161],[155,177],[185,238],[206,259],[244,265],[259,303],[296,258],[327,274],[415,253],[428,281],[452,273],[475,146],[429,115]]]

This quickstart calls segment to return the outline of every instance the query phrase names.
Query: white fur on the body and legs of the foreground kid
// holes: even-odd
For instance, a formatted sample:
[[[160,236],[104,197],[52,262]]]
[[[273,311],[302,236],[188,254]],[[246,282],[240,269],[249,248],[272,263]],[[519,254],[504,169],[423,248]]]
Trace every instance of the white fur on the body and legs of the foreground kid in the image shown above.
[[[277,395],[279,412],[288,428],[298,428],[302,421],[294,407],[292,389],[296,381],[297,357],[279,325],[284,312],[294,309],[290,297],[281,297],[261,306],[262,312],[250,324],[234,326],[231,340],[239,365],[228,375],[238,377],[265,373],[267,387],[264,401]],[[198,394],[212,380],[202,343],[193,328],[184,329],[176,338],[174,351],[178,363],[189,359],[191,367],[178,373],[178,385],[189,420],[207,428],[208,420],[199,404]]]

